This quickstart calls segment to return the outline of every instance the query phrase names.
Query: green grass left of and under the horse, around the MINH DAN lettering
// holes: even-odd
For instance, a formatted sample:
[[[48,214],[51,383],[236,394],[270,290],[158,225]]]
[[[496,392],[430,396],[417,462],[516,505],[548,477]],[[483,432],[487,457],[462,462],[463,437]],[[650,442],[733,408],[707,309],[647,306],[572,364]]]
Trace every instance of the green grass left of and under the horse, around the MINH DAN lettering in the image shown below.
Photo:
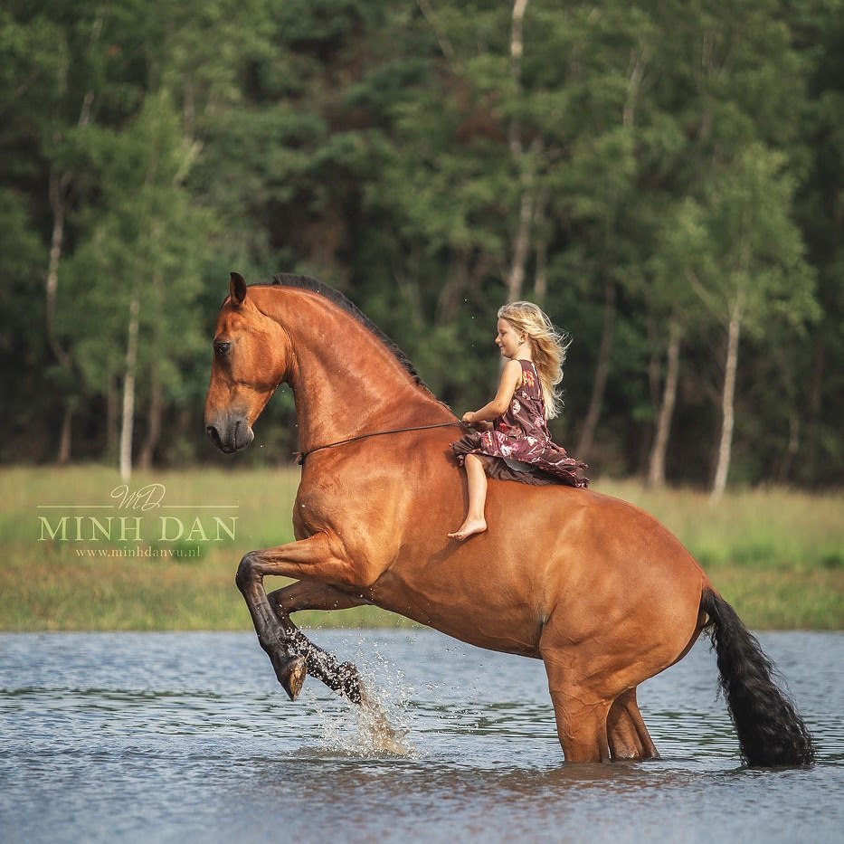
[[[175,543],[160,542],[161,508],[147,511],[77,510],[68,506],[115,503],[111,491],[121,485],[118,473],[102,467],[3,469],[0,495],[0,630],[251,630],[249,612],[234,586],[242,555],[255,548],[280,545],[293,538],[290,512],[299,483],[298,470],[136,474],[132,490],[161,484],[165,505],[202,505],[203,509],[168,509],[184,524]],[[50,509],[45,506],[51,507]],[[54,507],[54,508],[53,508]],[[236,509],[234,509],[236,507]],[[141,542],[73,540],[74,514],[105,524],[111,514],[139,516]],[[213,517],[237,515],[235,539],[222,533],[216,541]],[[66,541],[41,541],[40,518],[55,530],[68,515]],[[208,541],[187,537],[199,517]],[[148,529],[147,529],[148,520]],[[134,524],[134,523],[132,523]],[[173,525],[175,523],[167,523]],[[228,524],[228,523],[226,523]],[[170,534],[175,536],[175,531]],[[161,553],[169,548],[184,556],[128,556],[140,546]],[[89,553],[106,556],[87,556]],[[194,556],[198,553],[198,556]],[[83,554],[84,556],[81,556]],[[190,556],[186,554],[191,554]],[[268,589],[287,581],[266,579]],[[300,625],[384,627],[411,622],[375,607],[343,612],[300,612]]]

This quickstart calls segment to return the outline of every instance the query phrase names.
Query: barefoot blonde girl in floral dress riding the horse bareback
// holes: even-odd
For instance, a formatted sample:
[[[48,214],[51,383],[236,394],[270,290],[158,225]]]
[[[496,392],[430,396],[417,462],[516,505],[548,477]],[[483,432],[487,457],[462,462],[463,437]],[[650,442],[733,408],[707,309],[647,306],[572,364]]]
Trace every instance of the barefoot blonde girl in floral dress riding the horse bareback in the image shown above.
[[[588,486],[589,480],[577,475],[586,464],[569,457],[548,433],[547,420],[562,404],[555,387],[563,380],[566,340],[531,302],[513,302],[498,310],[495,342],[507,364],[495,398],[463,414],[463,422],[477,430],[451,443],[466,468],[469,510],[450,538],[468,539],[487,529],[487,476]]]

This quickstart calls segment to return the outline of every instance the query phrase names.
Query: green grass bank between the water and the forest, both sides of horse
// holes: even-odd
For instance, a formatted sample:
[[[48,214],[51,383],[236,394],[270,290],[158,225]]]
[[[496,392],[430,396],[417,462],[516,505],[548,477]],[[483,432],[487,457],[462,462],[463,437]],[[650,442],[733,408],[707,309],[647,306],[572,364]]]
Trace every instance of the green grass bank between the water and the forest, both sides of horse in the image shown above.
[[[124,489],[101,467],[3,469],[0,630],[251,629],[234,570],[245,551],[292,538],[298,481],[297,469],[193,469]],[[595,488],[669,526],[748,626],[844,629],[844,493],[754,490],[712,505],[691,490]],[[374,608],[297,621],[410,624]]]

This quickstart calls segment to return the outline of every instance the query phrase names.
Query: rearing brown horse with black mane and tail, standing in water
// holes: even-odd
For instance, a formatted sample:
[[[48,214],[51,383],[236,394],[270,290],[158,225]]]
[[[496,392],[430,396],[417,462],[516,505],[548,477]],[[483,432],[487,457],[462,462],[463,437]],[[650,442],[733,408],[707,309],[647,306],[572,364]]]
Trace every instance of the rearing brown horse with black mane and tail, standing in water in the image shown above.
[[[315,647],[289,613],[375,604],[542,659],[567,761],[649,759],[657,750],[636,688],[707,629],[745,762],[812,761],[770,662],[665,527],[597,492],[491,480],[488,531],[450,540],[467,494],[450,459],[453,413],[336,290],[275,281],[247,288],[232,272],[205,426],[219,449],[245,448],[273,391],[293,389],[304,460],[296,541],[245,555],[236,578],[291,699],[306,673],[356,702],[361,688],[354,666]],[[267,574],[296,582],[268,595]]]

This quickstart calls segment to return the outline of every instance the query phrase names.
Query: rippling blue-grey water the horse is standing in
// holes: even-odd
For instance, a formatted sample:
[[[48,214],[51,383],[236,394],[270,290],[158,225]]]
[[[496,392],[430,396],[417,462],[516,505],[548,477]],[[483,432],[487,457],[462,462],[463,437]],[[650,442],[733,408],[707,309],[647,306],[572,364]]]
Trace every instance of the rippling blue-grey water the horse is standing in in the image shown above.
[[[312,631],[404,744],[251,633],[0,635],[0,840],[844,840],[844,634],[769,633],[811,769],[741,767],[701,640],[640,689],[663,758],[565,765],[541,663],[432,631]]]

